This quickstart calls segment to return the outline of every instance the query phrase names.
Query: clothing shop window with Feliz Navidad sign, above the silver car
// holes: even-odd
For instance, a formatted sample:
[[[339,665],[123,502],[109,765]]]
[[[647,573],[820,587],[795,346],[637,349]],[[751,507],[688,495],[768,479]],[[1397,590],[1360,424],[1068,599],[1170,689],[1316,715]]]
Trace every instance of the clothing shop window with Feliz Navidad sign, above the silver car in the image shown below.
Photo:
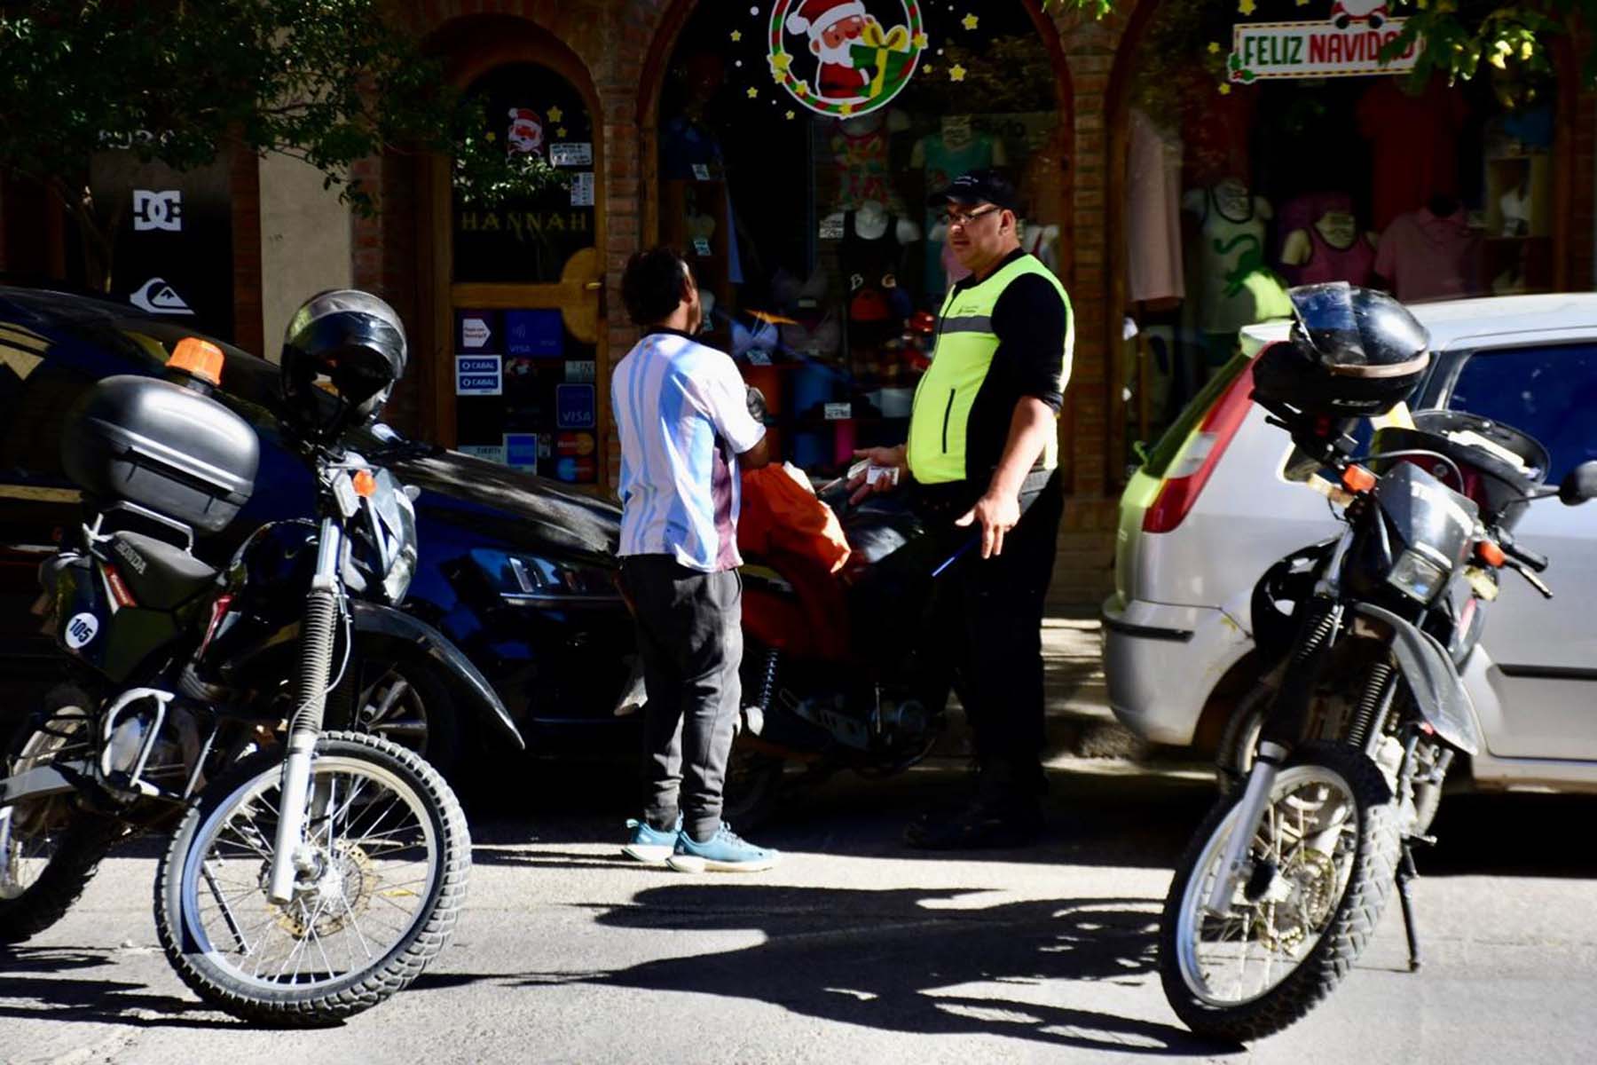
[[[1420,303],[1554,284],[1551,78],[1482,64],[1417,83],[1377,56],[1401,10],[1249,6],[1171,0],[1132,45],[1129,463],[1249,346],[1239,331],[1290,316],[1290,286]]]

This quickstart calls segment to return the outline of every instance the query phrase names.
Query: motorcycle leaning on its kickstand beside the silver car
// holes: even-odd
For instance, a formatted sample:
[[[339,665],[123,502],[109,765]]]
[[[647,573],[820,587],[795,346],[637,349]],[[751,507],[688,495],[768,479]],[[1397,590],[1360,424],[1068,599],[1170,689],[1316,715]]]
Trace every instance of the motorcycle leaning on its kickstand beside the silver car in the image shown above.
[[[1198,827],[1159,921],[1171,1006],[1193,1031],[1236,1041],[1319,1004],[1394,886],[1410,969],[1420,968],[1413,849],[1434,841],[1426,832],[1450,763],[1479,747],[1460,664],[1503,570],[1552,594],[1536,576],[1547,559],[1512,535],[1525,506],[1597,497],[1597,463],[1546,487],[1549,458],[1535,439],[1460,412],[1380,428],[1354,458],[1345,410],[1265,385],[1284,374],[1276,354],[1258,356],[1254,401],[1292,434],[1302,466],[1340,485],[1345,529],[1260,581],[1263,643],[1271,626],[1290,637],[1265,688],[1252,762]]]

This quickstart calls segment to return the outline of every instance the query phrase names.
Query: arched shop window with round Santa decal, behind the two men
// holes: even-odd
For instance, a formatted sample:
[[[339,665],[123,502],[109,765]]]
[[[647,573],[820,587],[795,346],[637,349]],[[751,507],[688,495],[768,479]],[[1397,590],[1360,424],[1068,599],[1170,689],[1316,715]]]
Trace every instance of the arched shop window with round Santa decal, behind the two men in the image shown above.
[[[1057,270],[1065,131],[1028,6],[701,3],[679,42],[660,232],[706,295],[706,342],[765,391],[798,466],[902,442],[961,273],[928,195],[1003,171],[1027,201],[1024,246]]]

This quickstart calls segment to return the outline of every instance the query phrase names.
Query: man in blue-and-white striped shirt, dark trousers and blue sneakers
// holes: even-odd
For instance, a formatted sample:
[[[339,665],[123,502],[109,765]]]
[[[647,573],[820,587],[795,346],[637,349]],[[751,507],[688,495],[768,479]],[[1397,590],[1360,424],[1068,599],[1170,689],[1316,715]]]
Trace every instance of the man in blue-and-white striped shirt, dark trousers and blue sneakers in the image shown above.
[[[621,436],[621,580],[644,656],[647,792],[623,853],[672,869],[776,864],[720,819],[743,688],[738,468],[770,458],[731,358],[693,340],[698,284],[669,247],[632,255],[621,299],[644,339],[610,378]]]

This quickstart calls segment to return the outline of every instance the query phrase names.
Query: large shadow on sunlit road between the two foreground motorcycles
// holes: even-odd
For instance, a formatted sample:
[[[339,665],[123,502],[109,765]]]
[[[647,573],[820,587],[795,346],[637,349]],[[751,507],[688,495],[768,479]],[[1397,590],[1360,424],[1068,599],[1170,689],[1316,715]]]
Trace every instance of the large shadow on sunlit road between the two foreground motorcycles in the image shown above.
[[[1135,987],[1155,972],[1156,901],[958,909],[968,894],[696,883],[650,888],[634,905],[610,909],[597,921],[645,931],[754,929],[765,942],[618,972],[524,972],[506,982],[755,1000],[878,1031],[997,1035],[1153,1055],[1241,1051],[1171,1023],[1056,1004],[1065,980]],[[418,985],[476,979],[495,980],[439,974],[423,976]],[[1064,996],[1072,992],[1064,990]]]

